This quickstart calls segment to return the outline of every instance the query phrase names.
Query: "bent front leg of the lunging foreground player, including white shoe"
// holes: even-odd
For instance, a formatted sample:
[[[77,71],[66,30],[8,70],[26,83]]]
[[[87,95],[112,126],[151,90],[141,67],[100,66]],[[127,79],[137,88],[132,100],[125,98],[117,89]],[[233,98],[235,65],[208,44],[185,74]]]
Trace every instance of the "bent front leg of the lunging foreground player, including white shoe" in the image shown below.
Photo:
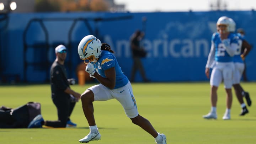
[[[94,106],[92,102],[106,101],[112,98],[113,97],[111,96],[109,90],[102,84],[90,87],[81,95],[82,109],[89,124],[90,133],[84,138],[80,139],[80,143],[88,143],[92,140],[99,140],[101,138],[101,134],[96,126],[94,118]]]

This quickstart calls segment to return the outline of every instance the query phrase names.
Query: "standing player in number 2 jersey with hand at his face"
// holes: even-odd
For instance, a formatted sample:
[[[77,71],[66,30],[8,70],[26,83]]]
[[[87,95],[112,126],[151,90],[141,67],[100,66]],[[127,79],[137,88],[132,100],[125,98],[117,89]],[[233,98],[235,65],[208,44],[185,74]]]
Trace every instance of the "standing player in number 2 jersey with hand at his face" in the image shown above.
[[[230,110],[232,105],[232,79],[234,74],[233,56],[236,47],[238,46],[238,39],[236,34],[230,33],[230,21],[228,17],[220,17],[217,21],[217,32],[212,35],[212,46],[208,55],[205,74],[207,78],[210,77],[210,99],[211,110],[204,115],[205,119],[217,119],[217,90],[219,84],[224,81],[226,91],[226,111],[225,119],[230,119]],[[215,63],[214,67],[213,64]],[[210,68],[213,67],[210,75]]]

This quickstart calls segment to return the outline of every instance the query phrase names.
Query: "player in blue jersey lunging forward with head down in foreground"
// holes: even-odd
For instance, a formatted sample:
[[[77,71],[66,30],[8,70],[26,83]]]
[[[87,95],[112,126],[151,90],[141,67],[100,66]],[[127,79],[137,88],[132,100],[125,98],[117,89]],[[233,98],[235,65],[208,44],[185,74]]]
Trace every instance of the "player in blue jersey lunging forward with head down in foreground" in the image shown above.
[[[130,81],[123,74],[113,53],[114,51],[107,43],[101,43],[93,35],[85,36],[79,43],[78,54],[87,63],[85,71],[100,82],[100,84],[85,90],[81,95],[82,109],[90,126],[90,133],[79,142],[88,143],[101,138],[96,126],[92,102],[115,98],[121,103],[132,123],[151,134],[156,143],[166,144],[165,135],[156,132],[151,123],[138,113]]]

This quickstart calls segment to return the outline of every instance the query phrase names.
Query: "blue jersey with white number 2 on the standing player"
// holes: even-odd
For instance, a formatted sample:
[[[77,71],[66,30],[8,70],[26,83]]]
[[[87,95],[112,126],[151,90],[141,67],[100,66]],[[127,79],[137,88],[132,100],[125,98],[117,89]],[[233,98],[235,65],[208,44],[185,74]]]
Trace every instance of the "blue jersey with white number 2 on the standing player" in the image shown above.
[[[230,33],[228,38],[231,43],[238,44],[238,36],[235,33]],[[224,48],[224,44],[220,39],[219,33],[214,33],[212,36],[212,42],[215,48],[215,61],[216,62],[233,62],[233,57],[231,57]]]

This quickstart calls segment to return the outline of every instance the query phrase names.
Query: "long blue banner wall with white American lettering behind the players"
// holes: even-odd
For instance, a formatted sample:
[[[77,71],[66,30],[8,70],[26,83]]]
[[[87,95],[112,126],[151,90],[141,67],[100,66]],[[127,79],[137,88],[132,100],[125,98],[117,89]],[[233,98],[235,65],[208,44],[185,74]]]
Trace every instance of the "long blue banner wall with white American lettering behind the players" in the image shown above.
[[[246,31],[246,40],[256,45],[255,11],[9,14],[0,21],[0,74],[2,78],[15,75],[22,81],[45,82],[55,59],[54,48],[62,43],[69,49],[68,75],[77,78],[75,69],[82,62],[77,54],[78,43],[84,36],[94,34],[110,44],[130,78],[129,39],[140,29],[145,31],[143,44],[148,51],[142,61],[151,81],[206,81],[210,39],[221,16],[233,18],[236,27]],[[255,54],[253,48],[246,57],[247,77],[253,81]],[[139,74],[136,78],[142,80]]]

